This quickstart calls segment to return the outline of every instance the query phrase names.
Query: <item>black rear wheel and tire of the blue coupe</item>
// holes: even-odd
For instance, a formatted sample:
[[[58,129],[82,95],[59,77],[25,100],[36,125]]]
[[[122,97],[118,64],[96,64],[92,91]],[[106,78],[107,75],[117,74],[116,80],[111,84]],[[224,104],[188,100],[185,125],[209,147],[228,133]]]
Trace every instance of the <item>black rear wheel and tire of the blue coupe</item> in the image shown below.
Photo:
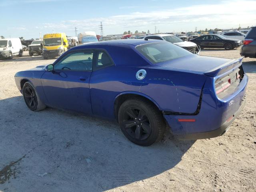
[[[158,108],[140,98],[122,103],[118,110],[118,122],[126,138],[140,146],[150,146],[159,141],[166,129]]]

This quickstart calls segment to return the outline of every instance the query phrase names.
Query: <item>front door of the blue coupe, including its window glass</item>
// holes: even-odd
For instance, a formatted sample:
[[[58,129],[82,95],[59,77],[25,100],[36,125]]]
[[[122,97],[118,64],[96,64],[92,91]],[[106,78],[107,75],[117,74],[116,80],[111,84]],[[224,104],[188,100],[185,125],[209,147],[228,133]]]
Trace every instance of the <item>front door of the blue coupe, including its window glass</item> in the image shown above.
[[[41,82],[47,104],[91,114],[89,82],[93,58],[93,50],[76,50],[58,60],[52,72],[45,72]]]

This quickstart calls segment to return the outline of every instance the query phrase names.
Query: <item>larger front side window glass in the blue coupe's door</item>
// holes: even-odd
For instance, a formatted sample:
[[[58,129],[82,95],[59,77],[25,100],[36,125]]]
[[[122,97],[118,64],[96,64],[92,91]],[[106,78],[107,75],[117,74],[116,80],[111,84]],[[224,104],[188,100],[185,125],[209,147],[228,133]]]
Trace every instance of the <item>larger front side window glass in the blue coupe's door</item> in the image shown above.
[[[64,56],[58,63],[54,65],[57,70],[92,70],[93,51],[72,52]]]

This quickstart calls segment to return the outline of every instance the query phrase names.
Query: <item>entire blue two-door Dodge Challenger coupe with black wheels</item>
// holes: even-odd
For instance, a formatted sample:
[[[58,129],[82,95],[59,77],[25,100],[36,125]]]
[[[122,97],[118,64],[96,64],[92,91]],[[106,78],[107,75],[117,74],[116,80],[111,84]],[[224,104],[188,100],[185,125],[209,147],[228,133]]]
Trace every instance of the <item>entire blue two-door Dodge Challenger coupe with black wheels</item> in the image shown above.
[[[245,104],[242,58],[199,56],[161,40],[71,48],[53,64],[15,74],[30,110],[60,108],[117,120],[135,144],[166,129],[181,140],[224,134]]]

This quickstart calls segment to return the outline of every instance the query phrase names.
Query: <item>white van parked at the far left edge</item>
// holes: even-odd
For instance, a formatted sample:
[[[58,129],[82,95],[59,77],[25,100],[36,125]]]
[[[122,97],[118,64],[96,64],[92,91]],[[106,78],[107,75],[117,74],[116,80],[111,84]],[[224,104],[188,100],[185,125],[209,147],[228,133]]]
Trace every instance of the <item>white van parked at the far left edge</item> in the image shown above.
[[[0,39],[0,58],[22,57],[23,49],[19,38]]]

